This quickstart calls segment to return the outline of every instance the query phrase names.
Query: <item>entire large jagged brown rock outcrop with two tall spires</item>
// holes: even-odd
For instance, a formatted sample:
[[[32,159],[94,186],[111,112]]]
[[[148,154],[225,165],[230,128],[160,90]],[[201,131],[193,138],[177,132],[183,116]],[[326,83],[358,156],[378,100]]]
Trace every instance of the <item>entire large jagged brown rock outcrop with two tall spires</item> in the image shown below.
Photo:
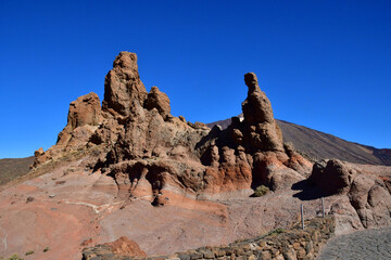
[[[114,178],[118,197],[143,197],[156,206],[175,204],[184,195],[218,198],[250,194],[261,184],[290,186],[312,165],[283,144],[255,74],[247,74],[244,82],[244,119],[211,130],[172,116],[165,93],[157,87],[146,91],[137,55],[121,52],[105,77],[102,108],[94,93],[72,102],[56,145],[38,155],[35,167],[70,151],[99,146],[88,167]]]

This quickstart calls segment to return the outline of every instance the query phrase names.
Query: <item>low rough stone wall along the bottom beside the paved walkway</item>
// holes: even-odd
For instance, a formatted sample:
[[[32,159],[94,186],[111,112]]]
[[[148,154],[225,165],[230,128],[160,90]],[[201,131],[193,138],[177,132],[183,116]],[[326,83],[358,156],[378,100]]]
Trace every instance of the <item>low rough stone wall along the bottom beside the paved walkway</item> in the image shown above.
[[[115,256],[109,247],[96,246],[83,251],[84,260],[204,260],[204,259],[315,259],[320,247],[326,244],[335,231],[332,217],[316,218],[305,221],[305,229],[300,225],[291,230],[277,229],[266,235],[232,243],[228,246],[201,247],[177,252],[172,256],[125,257]]]

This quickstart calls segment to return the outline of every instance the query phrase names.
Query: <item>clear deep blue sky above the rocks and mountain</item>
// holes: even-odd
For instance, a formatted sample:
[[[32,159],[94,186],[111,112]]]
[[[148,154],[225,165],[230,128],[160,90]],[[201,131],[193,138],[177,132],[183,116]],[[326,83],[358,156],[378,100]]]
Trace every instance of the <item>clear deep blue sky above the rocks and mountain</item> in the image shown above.
[[[174,116],[241,112],[257,74],[275,117],[391,148],[391,1],[0,1],[0,158],[49,148],[121,51]]]

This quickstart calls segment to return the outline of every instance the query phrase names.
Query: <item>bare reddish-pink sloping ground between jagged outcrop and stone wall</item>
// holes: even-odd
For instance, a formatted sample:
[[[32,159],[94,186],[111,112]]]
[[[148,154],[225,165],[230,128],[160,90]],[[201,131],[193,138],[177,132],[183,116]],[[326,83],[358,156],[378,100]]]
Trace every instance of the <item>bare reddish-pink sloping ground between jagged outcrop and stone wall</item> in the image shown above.
[[[300,204],[307,218],[320,209],[316,196],[301,200],[298,188],[214,202],[182,196],[163,207],[153,207],[148,197],[122,200],[111,177],[74,170],[84,159],[0,192],[0,256],[81,259],[84,247],[121,236],[147,255],[172,253],[289,226],[299,221]],[[389,176],[388,167],[380,168],[364,167],[365,174]],[[362,229],[346,196],[325,200],[327,211],[337,216],[338,232]]]

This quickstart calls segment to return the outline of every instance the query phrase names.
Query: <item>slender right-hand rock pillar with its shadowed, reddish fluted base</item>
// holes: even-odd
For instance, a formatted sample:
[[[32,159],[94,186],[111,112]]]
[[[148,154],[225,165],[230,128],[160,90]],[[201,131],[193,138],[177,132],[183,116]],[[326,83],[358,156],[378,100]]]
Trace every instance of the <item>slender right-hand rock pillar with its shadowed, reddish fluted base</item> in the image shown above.
[[[255,74],[244,75],[244,82],[249,91],[242,103],[243,120],[232,117],[227,129],[214,127],[204,141],[207,144],[200,145],[202,162],[211,166],[206,177],[212,185],[207,188],[231,190],[230,180],[235,180],[236,188],[290,186],[308,172],[312,164],[292,144],[283,144],[270,102],[261,91]],[[229,181],[222,181],[226,179]]]

